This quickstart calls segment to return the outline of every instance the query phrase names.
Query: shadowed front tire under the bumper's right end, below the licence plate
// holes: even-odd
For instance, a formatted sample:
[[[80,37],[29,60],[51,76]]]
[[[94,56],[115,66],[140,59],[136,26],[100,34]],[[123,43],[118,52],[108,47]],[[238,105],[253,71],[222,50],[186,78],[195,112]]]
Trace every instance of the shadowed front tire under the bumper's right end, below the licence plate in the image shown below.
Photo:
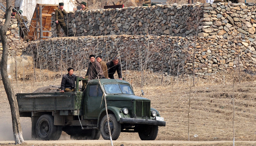
[[[141,140],[155,140],[158,133],[156,125],[141,125],[139,127],[139,136]]]

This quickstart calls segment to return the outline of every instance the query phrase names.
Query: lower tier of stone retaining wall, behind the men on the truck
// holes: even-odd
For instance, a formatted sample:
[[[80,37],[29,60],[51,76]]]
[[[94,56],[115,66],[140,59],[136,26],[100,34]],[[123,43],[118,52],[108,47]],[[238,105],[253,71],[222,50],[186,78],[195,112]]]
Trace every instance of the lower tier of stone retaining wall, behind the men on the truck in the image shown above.
[[[199,75],[230,70],[237,67],[238,62],[242,68],[256,65],[255,42],[247,37],[199,37],[195,42],[195,61],[193,37],[113,35],[52,38],[34,42],[25,51],[33,51],[37,67],[52,70],[86,69],[90,54],[102,55],[106,62],[120,55],[124,70],[140,71],[144,67],[168,74],[192,73],[193,62]]]

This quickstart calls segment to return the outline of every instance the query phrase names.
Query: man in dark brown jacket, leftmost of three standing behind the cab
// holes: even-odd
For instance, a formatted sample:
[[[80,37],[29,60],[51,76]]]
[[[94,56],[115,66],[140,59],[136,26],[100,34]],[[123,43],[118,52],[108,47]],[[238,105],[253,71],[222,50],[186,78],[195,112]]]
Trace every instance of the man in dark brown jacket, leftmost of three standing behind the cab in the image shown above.
[[[90,63],[88,65],[85,76],[88,76],[89,80],[105,78],[102,72],[102,69],[100,67],[100,63],[95,61],[95,55],[90,55],[89,58],[90,58]],[[82,80],[82,82],[83,82],[82,91],[84,91],[87,82],[84,80]]]

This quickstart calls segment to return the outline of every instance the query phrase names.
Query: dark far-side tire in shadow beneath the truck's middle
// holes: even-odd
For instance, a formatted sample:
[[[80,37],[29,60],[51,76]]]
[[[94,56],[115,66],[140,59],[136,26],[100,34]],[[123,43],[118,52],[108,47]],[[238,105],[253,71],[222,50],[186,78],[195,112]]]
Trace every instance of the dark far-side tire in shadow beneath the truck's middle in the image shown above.
[[[83,130],[81,133],[71,134],[71,140],[98,140],[100,131],[97,129]]]

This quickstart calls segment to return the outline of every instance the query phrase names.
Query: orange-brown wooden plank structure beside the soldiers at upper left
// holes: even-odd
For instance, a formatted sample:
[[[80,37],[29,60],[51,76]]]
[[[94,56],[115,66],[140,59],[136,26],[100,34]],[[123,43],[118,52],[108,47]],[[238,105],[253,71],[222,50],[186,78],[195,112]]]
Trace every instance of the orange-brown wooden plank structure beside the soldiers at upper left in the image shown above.
[[[36,4],[28,32],[30,40],[51,38],[51,13],[58,9],[59,5]]]

